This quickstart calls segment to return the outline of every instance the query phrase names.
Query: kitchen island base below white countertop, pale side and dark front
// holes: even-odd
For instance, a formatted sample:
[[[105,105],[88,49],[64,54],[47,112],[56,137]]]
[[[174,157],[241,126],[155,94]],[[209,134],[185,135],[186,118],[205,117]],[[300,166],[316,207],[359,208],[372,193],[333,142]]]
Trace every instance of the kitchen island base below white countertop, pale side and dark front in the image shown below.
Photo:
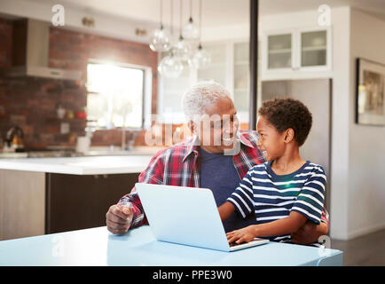
[[[138,175],[0,170],[0,241],[106,225]]]

